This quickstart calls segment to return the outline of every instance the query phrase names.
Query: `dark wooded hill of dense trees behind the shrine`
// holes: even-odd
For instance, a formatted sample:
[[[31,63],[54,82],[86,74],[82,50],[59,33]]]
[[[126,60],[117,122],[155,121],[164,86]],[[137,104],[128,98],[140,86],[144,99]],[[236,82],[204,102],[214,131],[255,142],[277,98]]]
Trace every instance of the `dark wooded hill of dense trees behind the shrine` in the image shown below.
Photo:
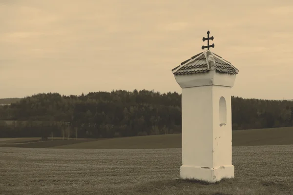
[[[292,101],[232,97],[231,104],[232,130],[293,125]],[[7,125],[8,120],[18,124]],[[33,121],[46,123],[36,126]],[[181,94],[148,90],[100,91],[80,96],[47,93],[0,106],[0,137],[37,137],[50,133],[90,138],[181,133]]]

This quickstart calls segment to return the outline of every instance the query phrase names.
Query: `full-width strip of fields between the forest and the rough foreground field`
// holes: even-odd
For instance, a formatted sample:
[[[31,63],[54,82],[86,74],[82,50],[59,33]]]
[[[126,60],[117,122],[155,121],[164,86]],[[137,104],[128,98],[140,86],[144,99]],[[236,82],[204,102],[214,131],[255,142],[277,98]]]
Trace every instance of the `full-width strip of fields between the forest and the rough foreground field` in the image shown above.
[[[23,148],[60,148],[60,149],[164,149],[181,148],[181,134],[120,137],[108,139],[70,139],[36,142],[29,138],[12,138],[3,141],[0,147]],[[24,142],[31,143],[17,143]],[[36,139],[36,138],[31,138]],[[293,127],[253,129],[232,131],[233,146],[259,146],[259,145],[290,145],[293,144]]]

